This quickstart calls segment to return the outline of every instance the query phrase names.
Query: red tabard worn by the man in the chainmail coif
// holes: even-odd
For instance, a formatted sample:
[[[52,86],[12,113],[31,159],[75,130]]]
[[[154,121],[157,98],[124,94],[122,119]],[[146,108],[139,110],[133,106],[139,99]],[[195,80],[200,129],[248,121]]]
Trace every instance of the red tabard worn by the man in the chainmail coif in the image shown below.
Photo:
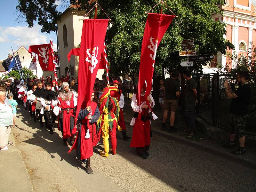
[[[60,97],[60,108],[61,109],[67,109],[70,108],[69,113],[67,113],[66,110],[62,110],[62,120],[63,120],[63,139],[69,138],[71,136],[70,133],[70,117],[73,116],[73,108],[74,108],[74,94],[72,94],[71,100],[63,101]],[[58,117],[59,118],[59,117]]]

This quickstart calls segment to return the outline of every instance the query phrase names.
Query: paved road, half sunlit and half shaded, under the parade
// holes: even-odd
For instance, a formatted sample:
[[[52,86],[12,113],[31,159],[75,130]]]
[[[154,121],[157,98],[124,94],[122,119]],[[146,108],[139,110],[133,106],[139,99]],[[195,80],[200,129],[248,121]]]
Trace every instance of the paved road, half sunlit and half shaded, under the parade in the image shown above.
[[[117,133],[117,155],[101,157],[103,145],[98,145],[91,158],[95,173],[88,175],[75,159],[75,151],[67,153],[69,148],[63,146],[57,129],[50,135],[28,118],[27,111],[20,111],[19,127],[12,132],[33,191],[256,191],[255,166],[168,137],[158,132],[159,123],[153,127],[147,160],[137,156],[130,141]],[[127,128],[131,135],[131,126]]]

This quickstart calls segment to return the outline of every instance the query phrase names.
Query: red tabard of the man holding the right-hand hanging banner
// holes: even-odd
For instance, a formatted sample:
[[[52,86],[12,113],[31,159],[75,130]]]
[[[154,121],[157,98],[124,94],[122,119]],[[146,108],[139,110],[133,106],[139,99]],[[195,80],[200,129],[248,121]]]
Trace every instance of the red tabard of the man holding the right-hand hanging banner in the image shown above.
[[[139,98],[136,93],[137,105]],[[140,105],[146,104],[147,97],[140,95]],[[142,109],[141,116],[148,116],[148,109]],[[142,117],[143,118],[143,117]],[[150,122],[149,119],[146,122],[136,118],[133,125],[132,141],[130,147],[145,147],[150,144]]]

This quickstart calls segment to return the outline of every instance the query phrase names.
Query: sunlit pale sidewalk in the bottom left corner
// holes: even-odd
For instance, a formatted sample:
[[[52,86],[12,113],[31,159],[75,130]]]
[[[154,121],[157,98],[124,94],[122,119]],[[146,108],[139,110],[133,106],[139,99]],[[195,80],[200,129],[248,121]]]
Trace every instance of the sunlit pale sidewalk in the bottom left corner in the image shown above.
[[[12,132],[9,140],[15,143]],[[20,150],[16,145],[8,146],[8,148],[8,150],[0,150],[1,191],[33,191]]]

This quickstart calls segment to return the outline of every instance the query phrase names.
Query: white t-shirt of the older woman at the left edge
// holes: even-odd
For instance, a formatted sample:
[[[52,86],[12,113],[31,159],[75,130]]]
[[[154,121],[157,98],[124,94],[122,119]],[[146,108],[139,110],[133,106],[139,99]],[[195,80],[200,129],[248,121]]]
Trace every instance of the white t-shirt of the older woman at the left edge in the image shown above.
[[[12,108],[0,103],[0,127],[8,127],[12,124]]]

